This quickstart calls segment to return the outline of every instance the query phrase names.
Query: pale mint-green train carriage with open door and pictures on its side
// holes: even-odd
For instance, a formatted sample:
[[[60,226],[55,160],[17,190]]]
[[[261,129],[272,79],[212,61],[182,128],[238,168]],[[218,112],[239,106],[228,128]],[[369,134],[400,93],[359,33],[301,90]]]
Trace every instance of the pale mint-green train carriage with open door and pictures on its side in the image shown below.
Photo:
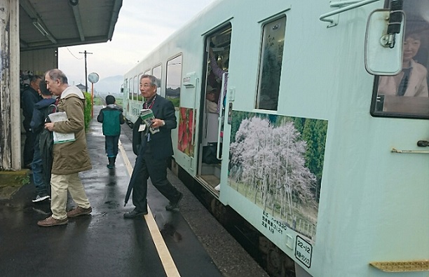
[[[293,259],[297,276],[381,277],[386,266],[425,276],[429,157],[416,142],[429,138],[429,95],[381,95],[382,77],[365,70],[367,20],[387,3],[327,23],[329,1],[313,2],[211,5],[125,74],[125,116],[142,108],[139,76],[157,76],[177,109],[175,162]],[[425,1],[407,5],[418,18]],[[429,35],[428,20],[418,24]]]

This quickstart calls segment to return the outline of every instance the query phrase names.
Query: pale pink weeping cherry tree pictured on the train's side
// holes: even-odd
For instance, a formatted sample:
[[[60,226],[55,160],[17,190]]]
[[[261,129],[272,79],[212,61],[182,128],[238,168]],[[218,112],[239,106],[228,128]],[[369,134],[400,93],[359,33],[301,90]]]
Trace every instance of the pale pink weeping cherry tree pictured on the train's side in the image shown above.
[[[231,185],[280,218],[315,206],[315,175],[306,167],[306,142],[293,121],[243,119],[231,143]],[[306,217],[306,215],[300,215]]]

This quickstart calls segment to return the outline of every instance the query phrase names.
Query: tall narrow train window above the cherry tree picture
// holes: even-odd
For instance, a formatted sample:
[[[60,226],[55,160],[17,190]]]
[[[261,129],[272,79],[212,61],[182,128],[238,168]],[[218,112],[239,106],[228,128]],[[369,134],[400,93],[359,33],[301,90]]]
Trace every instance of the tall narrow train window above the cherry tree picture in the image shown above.
[[[264,25],[259,58],[257,109],[276,110],[278,107],[280,72],[285,45],[285,25],[286,17]]]

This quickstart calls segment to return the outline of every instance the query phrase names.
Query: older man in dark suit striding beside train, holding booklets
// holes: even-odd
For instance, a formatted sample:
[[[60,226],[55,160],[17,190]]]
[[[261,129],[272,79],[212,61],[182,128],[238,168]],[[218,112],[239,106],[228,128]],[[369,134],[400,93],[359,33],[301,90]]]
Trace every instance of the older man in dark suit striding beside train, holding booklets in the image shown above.
[[[132,130],[132,150],[137,155],[129,186],[132,187],[132,204],[135,209],[123,217],[147,215],[147,180],[168,198],[166,210],[178,207],[183,194],[167,180],[167,159],[172,156],[171,130],[177,127],[175,107],[169,100],[156,94],[155,76],[140,77],[139,90],[146,102],[143,109],[151,109],[155,118],[146,126],[139,117]],[[149,130],[151,128],[151,130]]]

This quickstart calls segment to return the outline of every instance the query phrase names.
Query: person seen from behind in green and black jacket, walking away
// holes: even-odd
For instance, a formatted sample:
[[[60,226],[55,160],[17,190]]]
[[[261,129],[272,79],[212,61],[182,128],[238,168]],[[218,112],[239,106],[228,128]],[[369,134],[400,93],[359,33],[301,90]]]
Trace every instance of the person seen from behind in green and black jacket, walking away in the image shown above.
[[[121,124],[123,119],[122,108],[116,105],[113,95],[106,97],[107,107],[101,109],[97,121],[103,123],[103,135],[106,139],[105,147],[109,164],[107,168],[114,168],[116,156],[118,155],[119,135],[121,135]]]

